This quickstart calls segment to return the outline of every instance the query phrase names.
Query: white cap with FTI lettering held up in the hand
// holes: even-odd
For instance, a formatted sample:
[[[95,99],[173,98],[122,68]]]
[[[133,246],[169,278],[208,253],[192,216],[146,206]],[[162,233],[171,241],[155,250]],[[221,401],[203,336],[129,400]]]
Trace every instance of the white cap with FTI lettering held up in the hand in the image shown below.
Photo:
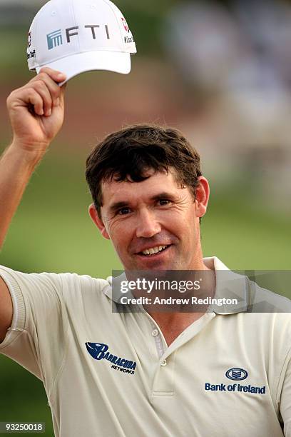
[[[128,74],[135,53],[126,19],[110,0],[50,0],[29,30],[29,69],[48,66],[66,81],[91,70]]]

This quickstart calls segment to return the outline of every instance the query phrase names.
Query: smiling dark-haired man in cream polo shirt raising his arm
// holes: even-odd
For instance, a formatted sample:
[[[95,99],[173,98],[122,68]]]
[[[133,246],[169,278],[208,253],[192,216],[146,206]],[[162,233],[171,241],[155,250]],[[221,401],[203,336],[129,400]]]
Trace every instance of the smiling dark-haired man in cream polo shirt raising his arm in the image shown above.
[[[9,96],[1,242],[61,129],[64,79],[44,69]],[[218,295],[227,268],[203,258],[200,243],[208,181],[180,132],[145,125],[111,134],[86,177],[91,218],[126,272],[206,272]],[[245,279],[232,282],[243,299],[231,311],[160,312],[126,311],[110,278],[0,274],[0,351],[44,382],[56,436],[291,436],[290,316],[247,313],[254,291]]]

